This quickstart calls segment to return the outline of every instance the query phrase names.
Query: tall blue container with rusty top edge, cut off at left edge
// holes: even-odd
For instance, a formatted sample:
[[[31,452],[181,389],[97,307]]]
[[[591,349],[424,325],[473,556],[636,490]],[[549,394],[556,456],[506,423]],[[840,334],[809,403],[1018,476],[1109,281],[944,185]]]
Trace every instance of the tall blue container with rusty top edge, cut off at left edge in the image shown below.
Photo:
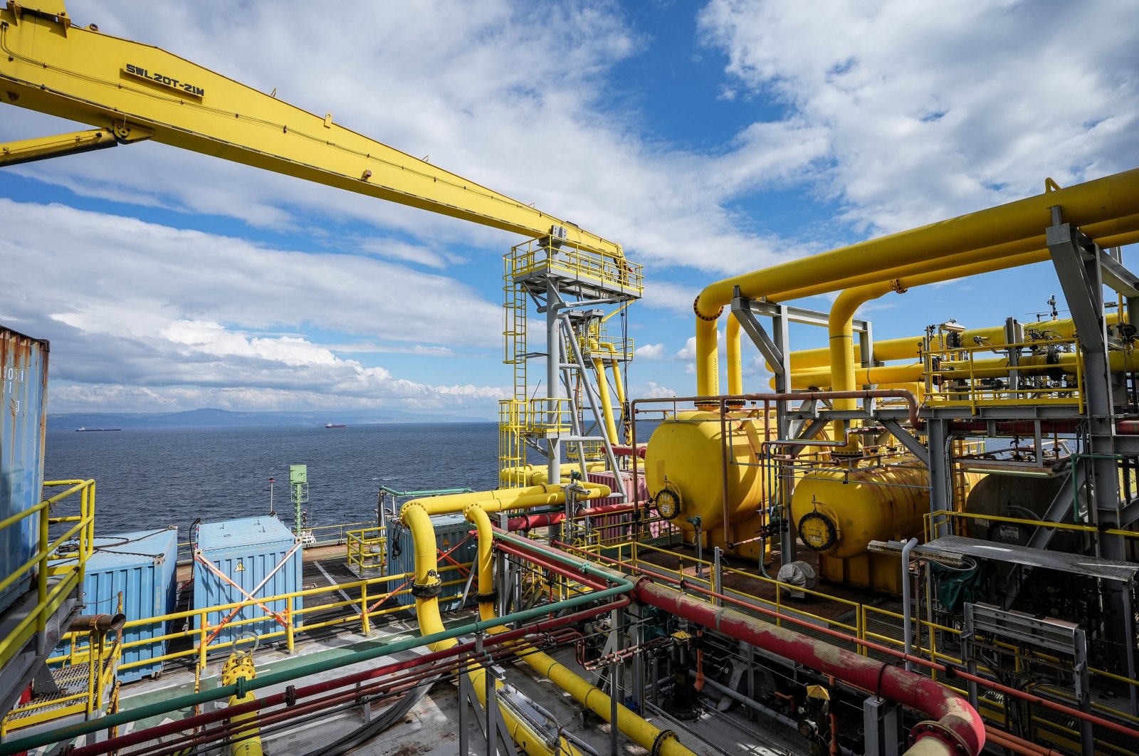
[[[0,327],[0,520],[25,512],[43,492],[43,439],[48,418],[48,343]],[[34,554],[39,515],[0,531],[0,575],[11,575]],[[34,573],[0,592],[0,611],[28,587]]]

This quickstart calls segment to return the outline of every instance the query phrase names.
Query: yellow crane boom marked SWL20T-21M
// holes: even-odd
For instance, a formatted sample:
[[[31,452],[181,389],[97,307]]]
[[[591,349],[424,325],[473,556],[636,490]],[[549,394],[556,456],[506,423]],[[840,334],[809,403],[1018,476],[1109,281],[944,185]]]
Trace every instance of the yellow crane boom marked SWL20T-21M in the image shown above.
[[[153,139],[623,256],[614,241],[350,131],[331,114],[308,113],[161,48],[75,26],[63,0],[8,0],[0,9],[0,100],[96,126],[2,146],[0,165]]]

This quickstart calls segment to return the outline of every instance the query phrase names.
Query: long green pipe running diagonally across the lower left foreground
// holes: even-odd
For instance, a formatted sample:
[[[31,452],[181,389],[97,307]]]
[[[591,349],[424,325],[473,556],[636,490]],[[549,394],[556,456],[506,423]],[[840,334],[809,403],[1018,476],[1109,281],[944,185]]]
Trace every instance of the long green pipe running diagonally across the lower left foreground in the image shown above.
[[[591,601],[605,600],[614,595],[629,593],[632,590],[633,590],[633,584],[629,581],[625,581],[623,585],[615,585],[613,587],[605,589],[604,591],[597,591],[583,595],[575,595],[565,599],[564,601],[558,601],[557,603],[549,603],[541,607],[534,607],[532,609],[526,609],[524,611],[515,611],[513,614],[506,615],[505,617],[497,617],[491,621],[480,619],[477,622],[473,622],[467,625],[461,625],[459,627],[453,627],[451,630],[446,630],[441,633],[433,633],[431,635],[421,635],[418,638],[409,638],[407,640],[396,641],[395,643],[390,643],[378,648],[367,649],[363,651],[355,651],[345,657],[323,659],[321,662],[310,662],[308,664],[301,664],[293,669],[284,669],[281,672],[272,672],[264,675],[257,675],[253,680],[243,680],[240,683],[240,692],[238,690],[239,688],[238,684],[221,685],[213,690],[202,691],[199,693],[187,693],[186,696],[170,698],[164,701],[147,704],[146,706],[139,706],[138,708],[132,708],[126,712],[120,712],[118,714],[110,714],[108,716],[99,717],[97,720],[91,720],[90,722],[82,722],[79,724],[73,724],[66,728],[62,728],[59,730],[50,730],[47,732],[41,732],[39,734],[28,736],[26,738],[21,738],[18,740],[11,740],[5,743],[0,743],[0,755],[17,754],[19,751],[39,748],[41,746],[55,745],[58,742],[63,742],[65,740],[72,740],[83,734],[96,732],[98,730],[107,730],[108,728],[126,724],[129,722],[134,722],[137,720],[149,718],[177,709],[191,708],[194,706],[218,700],[220,698],[229,698],[230,696],[244,695],[251,690],[257,690],[260,688],[267,688],[269,685],[277,685],[280,683],[289,682],[292,680],[296,680],[297,677],[305,677],[308,675],[319,674],[321,672],[329,672],[331,669],[337,669],[339,667],[344,667],[350,664],[357,664],[358,662],[368,662],[370,659],[376,659],[378,657],[387,656],[390,654],[399,654],[400,651],[407,651],[409,649],[419,648],[421,646],[428,646],[431,643],[437,643],[440,641],[449,640],[452,638],[459,638],[460,635],[481,633],[486,630],[490,630],[491,627],[499,627],[501,625],[515,622],[527,623],[531,619],[535,619],[543,615],[554,614],[562,609],[568,609],[572,607],[580,606],[582,603],[589,603]]]

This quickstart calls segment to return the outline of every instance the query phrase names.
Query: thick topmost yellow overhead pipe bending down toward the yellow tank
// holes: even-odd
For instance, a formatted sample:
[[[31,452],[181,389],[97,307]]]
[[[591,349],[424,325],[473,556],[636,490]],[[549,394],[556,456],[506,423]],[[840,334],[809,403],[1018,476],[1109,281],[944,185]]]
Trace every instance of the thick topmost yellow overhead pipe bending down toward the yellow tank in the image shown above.
[[[697,394],[719,394],[716,375],[716,319],[731,302],[736,288],[749,299],[828,285],[834,290],[853,277],[882,272],[896,277],[896,269],[1002,244],[1025,243],[1025,248],[1007,254],[1031,253],[1047,246],[1044,231],[1052,224],[1051,207],[1060,206],[1064,220],[1075,225],[1100,224],[1103,235],[1134,230],[1128,216],[1139,208],[1139,169],[1085,183],[1029,197],[997,207],[932,223],[794,260],[780,265],[711,284],[693,303],[696,313]],[[1121,219],[1124,219],[1121,222]],[[952,263],[941,262],[941,268]],[[892,271],[892,272],[887,272]]]

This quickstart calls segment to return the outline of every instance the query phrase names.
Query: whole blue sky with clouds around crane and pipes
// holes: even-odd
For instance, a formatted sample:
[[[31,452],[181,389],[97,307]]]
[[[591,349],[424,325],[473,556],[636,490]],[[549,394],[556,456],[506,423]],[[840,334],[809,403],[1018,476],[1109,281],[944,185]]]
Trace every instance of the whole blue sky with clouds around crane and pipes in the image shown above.
[[[1139,166],[1123,0],[227,8],[67,2],[622,243],[647,279],[633,395],[694,393],[713,280]],[[76,128],[0,114],[0,141]],[[52,412],[493,417],[508,392],[513,235],[149,143],[0,171],[0,323],[51,339]],[[1031,320],[1054,293],[1035,265],[861,314],[888,338]]]

